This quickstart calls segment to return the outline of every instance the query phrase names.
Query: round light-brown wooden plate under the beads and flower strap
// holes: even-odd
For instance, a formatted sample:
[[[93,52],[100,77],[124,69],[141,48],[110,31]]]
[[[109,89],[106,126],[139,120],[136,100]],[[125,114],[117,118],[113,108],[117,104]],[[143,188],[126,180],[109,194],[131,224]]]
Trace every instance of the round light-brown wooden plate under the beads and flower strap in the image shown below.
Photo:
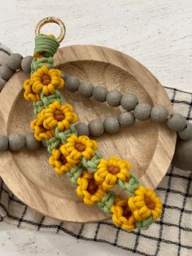
[[[119,51],[101,46],[68,46],[59,49],[55,65],[66,74],[103,85],[107,89],[118,88],[123,93],[133,91],[141,102],[164,104],[172,112],[172,104],[163,86],[136,60]],[[0,132],[26,134],[33,120],[33,104],[23,98],[22,85],[28,78],[20,71],[7,83],[0,94]],[[78,93],[64,91],[66,103],[72,104],[79,121],[104,118],[122,112],[107,104],[83,99]],[[156,188],[164,178],[172,161],[176,133],[165,125],[153,121],[137,121],[130,128],[116,135],[103,135],[97,139],[104,157],[117,156],[128,159],[131,171],[141,182]],[[42,214],[72,222],[92,222],[107,218],[97,206],[86,206],[76,196],[75,188],[66,175],[58,176],[48,164],[45,148],[37,152],[4,152],[0,156],[0,174],[8,188],[21,201]],[[116,188],[117,194],[120,189]]]

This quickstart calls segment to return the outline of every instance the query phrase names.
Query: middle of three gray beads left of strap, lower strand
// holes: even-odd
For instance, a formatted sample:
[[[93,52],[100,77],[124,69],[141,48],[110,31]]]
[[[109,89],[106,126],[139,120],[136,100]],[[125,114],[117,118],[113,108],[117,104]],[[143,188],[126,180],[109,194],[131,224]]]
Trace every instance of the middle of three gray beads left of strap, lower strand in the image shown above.
[[[25,139],[23,135],[13,133],[9,135],[9,148],[12,151],[20,151],[25,146]]]

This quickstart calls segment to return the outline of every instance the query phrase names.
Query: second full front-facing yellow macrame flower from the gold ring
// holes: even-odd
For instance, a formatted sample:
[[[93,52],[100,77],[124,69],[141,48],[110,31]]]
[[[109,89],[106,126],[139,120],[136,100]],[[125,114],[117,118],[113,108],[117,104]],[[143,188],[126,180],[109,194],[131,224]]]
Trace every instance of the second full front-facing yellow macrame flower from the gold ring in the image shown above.
[[[76,123],[77,116],[72,112],[73,108],[70,104],[59,104],[55,101],[49,105],[49,108],[45,108],[41,111],[41,120],[43,120],[43,126],[50,130],[58,126],[59,130],[68,130],[71,124]]]

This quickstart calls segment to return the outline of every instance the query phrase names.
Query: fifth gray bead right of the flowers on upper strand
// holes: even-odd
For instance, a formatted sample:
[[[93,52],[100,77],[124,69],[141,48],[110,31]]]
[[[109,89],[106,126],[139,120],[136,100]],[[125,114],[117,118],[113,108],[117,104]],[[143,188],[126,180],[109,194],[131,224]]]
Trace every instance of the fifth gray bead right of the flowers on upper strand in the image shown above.
[[[125,93],[120,99],[121,107],[127,111],[132,111],[138,104],[138,97],[133,93]]]

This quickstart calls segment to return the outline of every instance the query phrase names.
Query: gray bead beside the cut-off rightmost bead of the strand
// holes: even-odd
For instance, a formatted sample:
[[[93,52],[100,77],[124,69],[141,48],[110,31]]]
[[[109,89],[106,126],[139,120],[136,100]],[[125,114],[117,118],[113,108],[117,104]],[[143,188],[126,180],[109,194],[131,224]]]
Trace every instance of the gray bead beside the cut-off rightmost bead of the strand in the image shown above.
[[[168,128],[175,131],[183,130],[186,126],[185,117],[179,113],[174,113],[167,122]]]

